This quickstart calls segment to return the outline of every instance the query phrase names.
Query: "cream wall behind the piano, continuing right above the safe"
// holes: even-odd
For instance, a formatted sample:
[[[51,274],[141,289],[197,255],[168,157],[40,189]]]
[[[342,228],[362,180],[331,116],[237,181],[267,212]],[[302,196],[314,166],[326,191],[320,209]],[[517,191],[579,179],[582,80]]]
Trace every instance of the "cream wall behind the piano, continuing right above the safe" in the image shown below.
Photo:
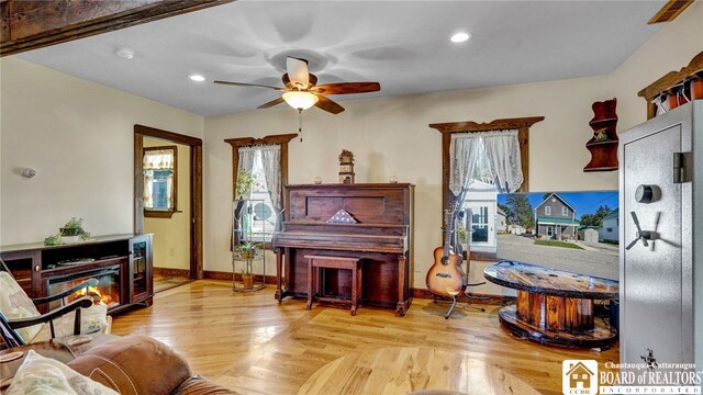
[[[416,184],[414,286],[424,287],[432,250],[440,244],[440,135],[427,125],[544,115],[531,129],[529,189],[578,191],[617,189],[617,172],[582,171],[590,156],[584,145],[592,136],[591,104],[617,98],[618,131],[646,120],[646,105],[637,91],[700,52],[703,8],[696,3],[612,75],[526,83],[488,89],[344,101],[346,111],[331,115],[317,109],[303,113],[301,143],[289,144],[289,180],[336,182],[337,155],[349,149],[356,158],[357,182],[387,182],[390,176]],[[681,40],[691,37],[691,40]],[[663,44],[667,43],[667,44]],[[665,50],[667,60],[660,61]],[[297,112],[280,106],[205,119],[205,261],[208,270],[230,270],[228,212],[231,147],[224,138],[294,133]],[[269,260],[270,261],[270,260]],[[472,263],[472,280],[482,279],[484,264]],[[270,268],[270,269],[269,269]],[[267,267],[271,272],[272,266]],[[487,286],[477,292],[500,292]]]

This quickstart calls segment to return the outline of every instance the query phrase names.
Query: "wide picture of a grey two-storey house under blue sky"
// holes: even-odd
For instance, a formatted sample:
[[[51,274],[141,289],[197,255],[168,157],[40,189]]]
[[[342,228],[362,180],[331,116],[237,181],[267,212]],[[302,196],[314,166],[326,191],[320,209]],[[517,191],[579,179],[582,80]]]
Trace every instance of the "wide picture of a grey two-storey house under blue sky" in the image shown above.
[[[495,259],[617,279],[617,191],[499,193]]]

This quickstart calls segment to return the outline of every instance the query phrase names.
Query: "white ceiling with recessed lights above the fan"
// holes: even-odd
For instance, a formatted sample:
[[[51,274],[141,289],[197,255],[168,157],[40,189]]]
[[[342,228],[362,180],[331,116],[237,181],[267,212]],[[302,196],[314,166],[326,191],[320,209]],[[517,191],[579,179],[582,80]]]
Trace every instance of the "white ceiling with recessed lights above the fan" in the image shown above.
[[[278,93],[213,80],[282,86],[286,55],[309,59],[319,83],[381,84],[336,101],[609,74],[661,27],[646,23],[665,2],[243,0],[16,57],[219,115]],[[457,31],[473,37],[453,44]],[[114,55],[125,46],[132,60]]]

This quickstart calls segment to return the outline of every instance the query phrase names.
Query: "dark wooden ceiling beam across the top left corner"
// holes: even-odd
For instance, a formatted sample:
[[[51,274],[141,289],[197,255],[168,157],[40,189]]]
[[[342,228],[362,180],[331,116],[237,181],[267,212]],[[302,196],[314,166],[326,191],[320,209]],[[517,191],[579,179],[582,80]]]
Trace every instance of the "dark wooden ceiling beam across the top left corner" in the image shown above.
[[[0,0],[0,56],[232,1],[234,0]]]

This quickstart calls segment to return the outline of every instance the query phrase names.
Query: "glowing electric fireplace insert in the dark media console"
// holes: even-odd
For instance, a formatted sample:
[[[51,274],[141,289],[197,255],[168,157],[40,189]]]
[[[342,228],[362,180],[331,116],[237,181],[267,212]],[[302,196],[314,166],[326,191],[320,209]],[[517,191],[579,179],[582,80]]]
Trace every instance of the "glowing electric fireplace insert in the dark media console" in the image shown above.
[[[55,275],[48,279],[47,291],[49,295],[62,293],[88,279],[98,280],[97,286],[87,286],[64,298],[64,303],[70,303],[79,297],[88,295],[93,304],[101,304],[108,308],[116,307],[122,301],[122,283],[120,281],[120,264],[112,264],[103,268],[94,268],[86,271],[72,272],[69,274]],[[49,305],[55,308],[62,301],[56,301]]]

